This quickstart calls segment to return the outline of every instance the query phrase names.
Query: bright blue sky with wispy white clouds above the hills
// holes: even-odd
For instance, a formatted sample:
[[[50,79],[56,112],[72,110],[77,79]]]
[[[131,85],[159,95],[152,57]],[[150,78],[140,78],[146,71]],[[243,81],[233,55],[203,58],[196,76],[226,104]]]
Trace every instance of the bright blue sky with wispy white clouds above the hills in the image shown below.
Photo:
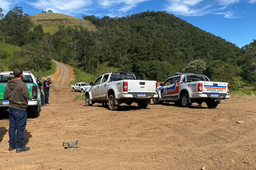
[[[15,6],[22,7],[29,15],[43,9],[78,18],[167,11],[240,48],[256,39],[256,0],[1,0],[0,3],[5,13]]]

